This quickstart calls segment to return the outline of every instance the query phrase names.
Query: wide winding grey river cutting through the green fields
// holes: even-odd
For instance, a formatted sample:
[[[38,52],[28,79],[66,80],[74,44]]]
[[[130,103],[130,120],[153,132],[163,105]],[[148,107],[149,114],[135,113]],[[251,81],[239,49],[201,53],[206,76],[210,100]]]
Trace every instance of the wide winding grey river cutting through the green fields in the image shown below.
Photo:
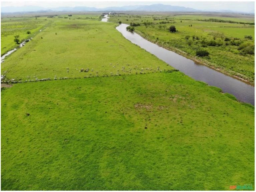
[[[107,16],[105,18],[107,20]],[[105,21],[105,20],[104,20]],[[234,95],[238,100],[254,105],[254,86],[236,78],[225,75],[205,65],[197,64],[193,60],[181,56],[173,51],[162,48],[142,38],[136,33],[126,31],[127,24],[120,24],[116,29],[132,43],[146,49],[159,59],[193,79],[204,81],[209,85],[220,87],[223,92]]]

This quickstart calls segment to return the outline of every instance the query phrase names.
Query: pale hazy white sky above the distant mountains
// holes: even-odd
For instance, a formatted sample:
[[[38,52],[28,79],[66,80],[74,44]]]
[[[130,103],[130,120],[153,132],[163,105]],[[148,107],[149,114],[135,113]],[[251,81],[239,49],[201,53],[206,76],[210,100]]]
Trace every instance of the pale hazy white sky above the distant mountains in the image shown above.
[[[2,1],[1,0],[1,7],[7,6],[40,6],[45,8],[50,7],[75,7],[75,6],[87,6],[87,7],[96,7],[96,8],[104,8],[104,7],[112,7],[112,6],[125,6],[125,5],[151,5],[156,3],[162,3],[166,5],[175,5],[175,6],[183,6],[189,7],[194,9],[200,10],[232,10],[232,11],[244,11],[249,12],[254,10],[254,1],[240,1],[240,2],[232,2],[232,1],[134,1],[130,0],[129,2],[126,1],[104,1],[98,0],[95,2],[89,1],[49,1],[49,0],[35,0],[35,1],[22,1],[22,0],[12,0],[12,1]]]

